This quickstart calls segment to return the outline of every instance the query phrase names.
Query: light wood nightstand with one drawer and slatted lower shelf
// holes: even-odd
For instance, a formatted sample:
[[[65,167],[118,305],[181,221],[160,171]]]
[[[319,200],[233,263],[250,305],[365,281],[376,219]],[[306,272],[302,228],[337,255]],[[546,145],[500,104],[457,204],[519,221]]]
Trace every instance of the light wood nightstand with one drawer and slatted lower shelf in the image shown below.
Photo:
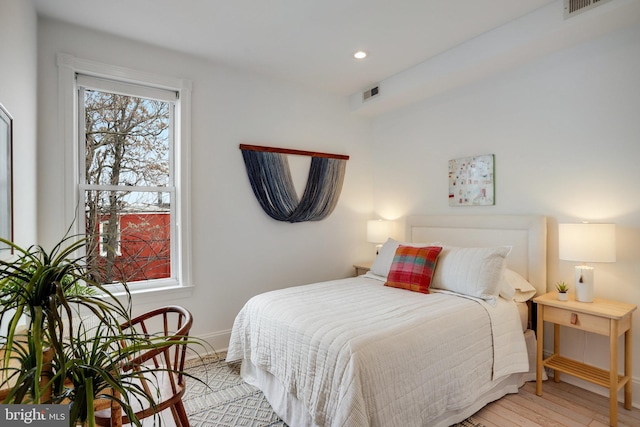
[[[631,325],[637,306],[603,298],[578,302],[573,294],[569,301],[559,301],[556,292],[534,299],[538,304],[538,349],[536,394],[542,396],[542,370],[553,369],[553,380],[560,373],[572,375],[609,389],[609,425],[618,425],[618,391],[624,387],[624,407],[631,409]],[[553,323],[553,354],[543,359],[544,322]],[[609,370],[596,368],[560,355],[560,325],[609,337]],[[618,374],[618,337],[624,334],[624,375]]]

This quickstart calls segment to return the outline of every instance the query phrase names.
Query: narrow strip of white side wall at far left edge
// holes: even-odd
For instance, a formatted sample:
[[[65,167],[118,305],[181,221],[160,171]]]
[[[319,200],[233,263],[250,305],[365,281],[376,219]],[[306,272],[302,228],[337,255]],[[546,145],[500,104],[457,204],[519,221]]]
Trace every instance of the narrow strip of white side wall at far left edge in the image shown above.
[[[24,247],[37,231],[36,24],[30,1],[0,0],[0,103],[13,117],[13,232]]]

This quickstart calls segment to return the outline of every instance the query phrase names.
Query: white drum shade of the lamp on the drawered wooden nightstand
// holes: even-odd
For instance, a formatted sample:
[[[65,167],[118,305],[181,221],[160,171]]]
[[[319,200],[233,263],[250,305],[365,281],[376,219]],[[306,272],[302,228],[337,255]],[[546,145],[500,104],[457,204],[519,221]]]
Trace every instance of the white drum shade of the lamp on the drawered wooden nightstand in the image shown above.
[[[615,224],[559,224],[559,258],[578,262],[615,262]]]

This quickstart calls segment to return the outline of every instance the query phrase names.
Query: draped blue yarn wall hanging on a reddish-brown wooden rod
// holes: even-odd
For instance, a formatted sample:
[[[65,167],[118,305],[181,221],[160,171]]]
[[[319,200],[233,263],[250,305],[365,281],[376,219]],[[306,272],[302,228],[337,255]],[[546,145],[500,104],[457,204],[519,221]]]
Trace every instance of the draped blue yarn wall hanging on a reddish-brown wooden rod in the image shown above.
[[[240,144],[251,188],[271,218],[286,222],[320,221],[338,203],[349,156]],[[298,198],[287,155],[311,156],[307,185]]]

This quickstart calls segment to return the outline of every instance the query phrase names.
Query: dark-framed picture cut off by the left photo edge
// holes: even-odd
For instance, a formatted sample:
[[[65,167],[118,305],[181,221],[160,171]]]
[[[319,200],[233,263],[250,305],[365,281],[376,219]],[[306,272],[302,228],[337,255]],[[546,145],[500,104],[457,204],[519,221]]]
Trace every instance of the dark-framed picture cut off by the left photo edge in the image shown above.
[[[0,237],[13,241],[13,118],[0,104]],[[0,256],[12,253],[0,243]]]

